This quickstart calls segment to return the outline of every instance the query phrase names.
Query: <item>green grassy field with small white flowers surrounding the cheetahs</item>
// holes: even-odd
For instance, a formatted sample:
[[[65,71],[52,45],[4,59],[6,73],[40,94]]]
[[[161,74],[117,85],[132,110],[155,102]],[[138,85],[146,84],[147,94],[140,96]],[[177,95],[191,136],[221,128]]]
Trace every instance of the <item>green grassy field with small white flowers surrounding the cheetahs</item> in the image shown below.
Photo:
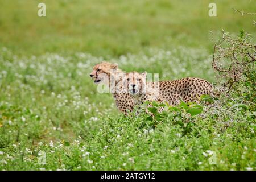
[[[239,98],[152,127],[146,114],[119,113],[89,77],[107,60],[216,85],[209,31],[217,40],[221,28],[243,29],[255,42],[255,16],[231,8],[255,12],[256,4],[215,1],[210,18],[210,2],[0,0],[0,169],[255,170],[256,112]]]

